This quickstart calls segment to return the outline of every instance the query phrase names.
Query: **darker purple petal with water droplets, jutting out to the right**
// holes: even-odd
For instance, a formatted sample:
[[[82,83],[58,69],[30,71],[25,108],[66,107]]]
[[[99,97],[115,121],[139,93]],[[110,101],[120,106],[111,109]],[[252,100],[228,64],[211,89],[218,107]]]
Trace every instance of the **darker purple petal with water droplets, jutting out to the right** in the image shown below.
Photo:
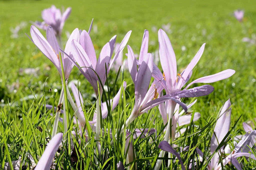
[[[200,97],[210,94],[214,90],[211,85],[202,85],[187,90],[181,90],[174,93],[164,95],[163,97],[173,97],[173,98],[184,98],[184,97]]]

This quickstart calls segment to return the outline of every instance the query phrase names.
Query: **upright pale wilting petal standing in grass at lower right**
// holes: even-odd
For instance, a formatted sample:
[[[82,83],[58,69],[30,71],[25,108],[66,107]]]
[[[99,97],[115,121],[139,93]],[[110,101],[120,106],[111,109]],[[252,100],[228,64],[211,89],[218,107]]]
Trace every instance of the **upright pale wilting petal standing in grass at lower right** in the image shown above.
[[[211,154],[215,152],[219,143],[224,139],[226,134],[229,131],[230,126],[230,117],[231,117],[231,104],[230,99],[228,99],[224,105],[221,107],[221,110],[217,116],[217,121],[214,128],[214,133],[211,138]],[[216,139],[216,137],[217,139]],[[224,146],[220,149],[222,150]],[[211,166],[216,167],[219,162],[219,154],[215,153],[215,155],[211,159]]]

